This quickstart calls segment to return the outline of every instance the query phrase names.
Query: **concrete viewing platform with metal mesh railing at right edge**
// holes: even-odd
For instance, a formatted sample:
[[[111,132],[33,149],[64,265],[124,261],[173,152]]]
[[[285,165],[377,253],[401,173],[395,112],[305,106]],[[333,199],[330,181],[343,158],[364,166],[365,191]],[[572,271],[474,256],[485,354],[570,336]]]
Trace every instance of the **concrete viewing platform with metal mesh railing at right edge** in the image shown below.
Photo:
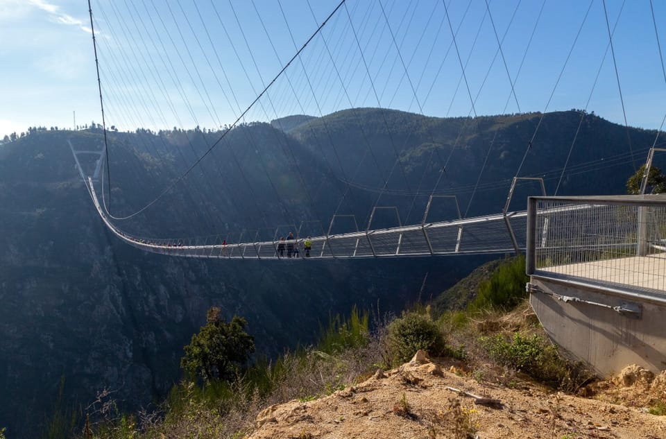
[[[547,334],[602,376],[666,369],[666,196],[531,197],[527,289]]]

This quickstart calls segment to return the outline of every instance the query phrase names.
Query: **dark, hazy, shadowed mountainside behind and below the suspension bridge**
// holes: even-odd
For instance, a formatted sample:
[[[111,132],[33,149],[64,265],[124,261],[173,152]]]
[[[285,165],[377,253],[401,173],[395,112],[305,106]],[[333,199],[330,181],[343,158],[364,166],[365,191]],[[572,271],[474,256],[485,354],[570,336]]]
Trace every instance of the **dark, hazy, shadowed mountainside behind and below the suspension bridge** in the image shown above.
[[[357,181],[363,187],[381,172],[368,164],[363,148],[355,148],[364,143],[358,130],[348,129],[357,123],[352,116],[332,115],[326,129],[340,148],[348,178],[359,164],[365,166]],[[366,119],[369,126],[377,115],[369,111],[364,117],[370,118]],[[405,145],[399,151],[405,176],[416,188],[422,170],[436,168],[429,160],[432,142],[452,147],[452,134],[447,133],[460,130],[458,125],[464,121],[397,112],[393,117],[397,118],[395,126],[411,133],[397,139]],[[468,137],[459,164],[450,171],[460,177],[450,182],[452,187],[475,180],[479,171],[475,164],[483,160],[485,150],[480,139],[491,139],[492,130],[500,130],[502,148],[509,150],[505,153],[499,148],[497,154],[518,154],[520,148],[514,145],[520,142],[511,132],[527,132],[533,121],[529,117],[509,119],[486,121],[484,130]],[[561,119],[561,130],[573,131],[574,119]],[[433,125],[414,128],[426,121]],[[607,153],[617,153],[621,149],[617,136],[626,138],[624,130],[610,132],[610,124],[594,121],[593,129],[583,137],[607,139]],[[305,127],[308,123],[311,126]],[[145,236],[214,232],[232,236],[243,228],[262,230],[266,224],[274,227],[309,218],[330,221],[347,188],[339,169],[330,166],[335,160],[332,149],[325,148],[327,153],[322,155],[318,151],[323,145],[309,138],[317,130],[323,138],[321,124],[321,120],[305,118],[300,125],[290,126],[293,136],[265,124],[234,130],[228,144],[216,152],[219,155],[171,191],[159,209],[123,223],[123,227]],[[548,129],[556,130],[556,125]],[[433,132],[439,132],[439,137],[433,137]],[[383,151],[379,169],[388,169],[394,160],[391,150],[386,144],[381,149],[379,128],[376,134],[373,148]],[[632,135],[636,144],[645,144],[648,137],[654,140],[651,132],[637,130]],[[133,212],[168,187],[214,136],[203,132],[111,135],[114,212]],[[385,313],[399,312],[419,292],[422,300],[429,300],[488,259],[300,263],[147,254],[123,245],[105,230],[74,166],[67,141],[77,147],[100,148],[101,139],[99,132],[36,132],[0,145],[0,426],[15,432],[34,431],[51,411],[61,377],[65,377],[65,400],[84,406],[103,388],[112,390],[114,399],[128,408],[160,399],[180,378],[182,346],[203,325],[205,311],[211,306],[221,307],[225,318],[244,316],[258,351],[271,355],[296,343],[314,341],[330,315],[348,313],[355,304]],[[287,143],[280,144],[282,141]],[[533,171],[552,169],[556,161],[563,163],[568,148],[562,144],[552,141],[544,147],[547,162],[530,156]],[[586,160],[586,154],[579,158]],[[511,178],[515,168],[497,160],[493,160],[488,178]],[[239,171],[238,164],[244,171]],[[615,178],[608,172],[615,172]],[[597,193],[622,192],[626,176],[617,177],[617,169],[604,175],[610,183],[596,187]],[[577,193],[595,191],[595,182],[572,187]],[[357,187],[349,190],[339,212],[356,214],[364,227],[362,218],[367,218],[377,193]],[[479,209],[493,209],[505,198],[505,191],[502,196],[484,192]],[[404,221],[412,200],[412,196],[387,196],[382,204],[395,202]],[[312,230],[317,227],[325,230],[327,224],[318,223]],[[266,233],[271,239],[275,229]],[[237,239],[238,234],[234,236]],[[425,289],[420,291],[426,275]]]

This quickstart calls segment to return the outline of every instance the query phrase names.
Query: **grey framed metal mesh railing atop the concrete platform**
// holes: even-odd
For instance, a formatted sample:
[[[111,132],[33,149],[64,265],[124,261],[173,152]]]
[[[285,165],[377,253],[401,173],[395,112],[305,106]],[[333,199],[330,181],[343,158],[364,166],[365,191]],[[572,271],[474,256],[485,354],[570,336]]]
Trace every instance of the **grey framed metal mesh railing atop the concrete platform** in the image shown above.
[[[666,294],[666,196],[530,198],[527,272]]]

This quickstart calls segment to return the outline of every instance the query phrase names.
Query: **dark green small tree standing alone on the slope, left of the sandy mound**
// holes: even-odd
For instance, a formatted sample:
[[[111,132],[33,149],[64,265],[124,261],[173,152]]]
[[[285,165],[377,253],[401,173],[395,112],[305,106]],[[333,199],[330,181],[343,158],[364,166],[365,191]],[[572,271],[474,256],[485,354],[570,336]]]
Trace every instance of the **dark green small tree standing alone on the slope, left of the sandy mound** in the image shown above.
[[[206,320],[206,325],[185,346],[180,367],[191,378],[230,381],[255,352],[255,339],[245,332],[244,318],[234,316],[230,322],[224,322],[218,307],[208,310]]]

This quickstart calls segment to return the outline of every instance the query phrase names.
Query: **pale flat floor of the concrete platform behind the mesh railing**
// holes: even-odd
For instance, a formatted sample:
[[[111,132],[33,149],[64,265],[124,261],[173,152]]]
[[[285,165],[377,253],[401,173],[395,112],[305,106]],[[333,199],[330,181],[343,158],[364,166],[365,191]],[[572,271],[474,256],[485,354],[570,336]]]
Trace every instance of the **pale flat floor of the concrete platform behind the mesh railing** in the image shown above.
[[[544,267],[540,272],[594,279],[647,291],[666,291],[666,253]]]

